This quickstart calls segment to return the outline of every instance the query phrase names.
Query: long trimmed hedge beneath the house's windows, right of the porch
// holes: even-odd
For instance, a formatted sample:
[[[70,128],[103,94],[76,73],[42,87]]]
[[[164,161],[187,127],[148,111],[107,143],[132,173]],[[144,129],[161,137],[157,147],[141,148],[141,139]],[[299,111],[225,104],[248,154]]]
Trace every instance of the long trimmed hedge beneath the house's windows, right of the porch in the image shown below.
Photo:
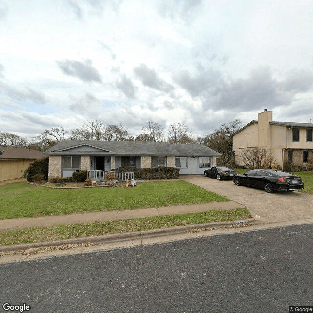
[[[133,168],[120,167],[117,172],[134,172],[134,179],[177,179],[179,178],[179,168],[156,167],[156,168]]]

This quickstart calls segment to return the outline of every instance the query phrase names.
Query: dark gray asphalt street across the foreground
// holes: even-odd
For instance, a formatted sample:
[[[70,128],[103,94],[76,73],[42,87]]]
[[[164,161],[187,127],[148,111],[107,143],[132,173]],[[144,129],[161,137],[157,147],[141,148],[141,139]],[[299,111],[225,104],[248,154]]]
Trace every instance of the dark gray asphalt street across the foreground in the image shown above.
[[[313,305],[312,256],[305,224],[0,264],[0,312],[288,312]]]

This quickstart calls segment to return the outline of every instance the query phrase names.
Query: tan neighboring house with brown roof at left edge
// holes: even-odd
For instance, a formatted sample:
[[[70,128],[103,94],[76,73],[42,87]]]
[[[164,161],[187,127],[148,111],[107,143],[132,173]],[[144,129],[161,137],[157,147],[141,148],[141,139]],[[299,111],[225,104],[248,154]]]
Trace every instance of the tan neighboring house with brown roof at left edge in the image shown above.
[[[0,181],[22,177],[28,165],[45,157],[41,151],[17,146],[0,146]]]

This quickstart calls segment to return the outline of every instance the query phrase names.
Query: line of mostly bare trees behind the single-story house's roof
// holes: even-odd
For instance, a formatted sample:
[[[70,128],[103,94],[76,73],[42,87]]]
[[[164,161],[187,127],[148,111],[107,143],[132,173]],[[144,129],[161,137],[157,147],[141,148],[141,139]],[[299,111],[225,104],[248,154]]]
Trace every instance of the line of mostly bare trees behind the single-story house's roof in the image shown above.
[[[128,129],[120,125],[106,125],[102,120],[90,120],[81,127],[65,130],[63,127],[45,129],[34,140],[29,142],[25,138],[8,132],[0,132],[0,146],[20,146],[29,149],[45,151],[62,140],[130,140],[154,141],[173,144],[204,144],[222,154],[223,164],[232,160],[232,136],[242,127],[242,121],[236,119],[223,123],[219,129],[204,137],[195,137],[191,130],[183,123],[173,123],[167,130],[154,121],[147,121],[137,136],[130,134]]]

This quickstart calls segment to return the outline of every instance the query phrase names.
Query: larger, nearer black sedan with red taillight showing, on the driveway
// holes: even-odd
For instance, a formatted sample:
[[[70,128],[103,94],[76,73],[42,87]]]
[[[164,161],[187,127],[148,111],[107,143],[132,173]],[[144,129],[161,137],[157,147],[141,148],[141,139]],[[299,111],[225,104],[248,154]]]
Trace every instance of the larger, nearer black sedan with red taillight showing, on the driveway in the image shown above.
[[[245,185],[264,189],[266,192],[294,191],[304,188],[301,177],[280,170],[256,169],[233,178],[237,185]]]

